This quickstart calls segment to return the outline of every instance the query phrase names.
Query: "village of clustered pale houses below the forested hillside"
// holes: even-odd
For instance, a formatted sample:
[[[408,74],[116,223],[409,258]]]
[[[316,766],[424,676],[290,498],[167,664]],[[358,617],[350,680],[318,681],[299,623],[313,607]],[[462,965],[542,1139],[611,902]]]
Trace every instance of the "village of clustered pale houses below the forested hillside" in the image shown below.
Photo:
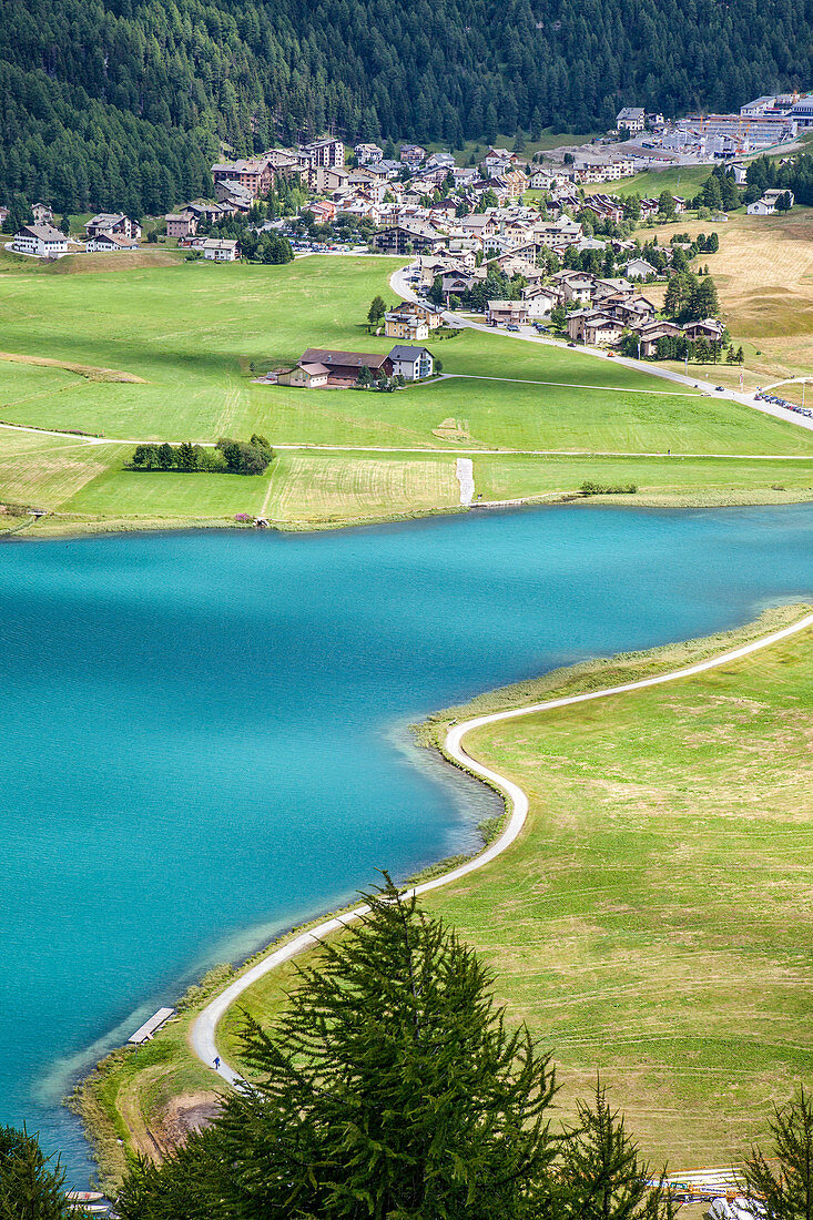
[[[699,312],[665,311],[658,294],[647,295],[647,285],[691,276],[690,260],[717,245],[674,235],[659,245],[657,231],[647,237],[642,227],[654,229],[690,209],[725,223],[726,206],[743,199],[750,216],[790,210],[792,192],[747,185],[742,157],[768,142],[790,142],[811,124],[813,100],[797,94],[757,99],[736,116],[676,123],[623,107],[615,128],[590,145],[532,157],[491,146],[472,154],[469,165],[415,144],[396,150],[358,143],[350,150],[325,135],[212,165],[214,198],[177,206],[146,232],[122,212],[101,212],[83,223],[81,239],[70,224],[56,226],[48,204],[37,204],[33,223],[22,226],[6,249],[39,259],[104,256],[136,251],[146,240],[168,242],[187,259],[214,262],[277,262],[314,253],[411,257],[403,283],[414,299],[376,320],[378,333],[400,342],[400,356],[388,357],[385,367],[369,354],[331,357],[311,350],[295,367],[266,375],[282,384],[347,386],[361,370],[372,387],[382,377],[397,386],[431,376],[433,357],[421,344],[444,311],[447,320],[460,311],[493,328],[551,333],[638,359],[704,359],[708,353],[715,361],[729,336],[713,285],[706,295],[695,293],[695,305],[708,303]],[[657,195],[594,189],[662,165],[664,150],[684,162],[706,160],[713,189],[696,199],[667,189]],[[657,189],[657,172],[645,181]],[[706,240],[717,243],[717,234]],[[344,359],[350,356],[354,365]],[[728,359],[736,359],[732,348]]]

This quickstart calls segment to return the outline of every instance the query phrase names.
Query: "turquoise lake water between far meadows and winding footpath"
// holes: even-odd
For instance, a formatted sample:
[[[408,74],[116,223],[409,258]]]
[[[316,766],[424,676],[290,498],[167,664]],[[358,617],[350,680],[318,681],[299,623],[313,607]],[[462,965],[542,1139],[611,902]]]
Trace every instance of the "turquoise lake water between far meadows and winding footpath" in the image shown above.
[[[82,1185],[89,1048],[474,844],[493,798],[408,723],[811,595],[813,505],[0,547],[0,1121]]]

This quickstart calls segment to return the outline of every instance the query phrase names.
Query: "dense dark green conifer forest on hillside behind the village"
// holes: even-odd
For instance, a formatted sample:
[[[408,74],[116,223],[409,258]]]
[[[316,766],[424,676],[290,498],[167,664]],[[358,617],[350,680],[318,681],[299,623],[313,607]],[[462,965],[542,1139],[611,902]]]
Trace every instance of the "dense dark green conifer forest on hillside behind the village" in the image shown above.
[[[154,211],[333,128],[460,145],[811,84],[806,0],[0,0],[0,200]]]

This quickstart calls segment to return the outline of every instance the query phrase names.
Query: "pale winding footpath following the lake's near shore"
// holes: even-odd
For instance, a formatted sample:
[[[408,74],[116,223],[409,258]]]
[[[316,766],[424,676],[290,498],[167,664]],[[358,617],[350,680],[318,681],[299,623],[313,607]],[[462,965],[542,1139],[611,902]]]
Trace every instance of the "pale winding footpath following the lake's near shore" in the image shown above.
[[[768,636],[751,640],[748,644],[742,644],[740,648],[730,649],[729,651],[720,653],[718,656],[698,661],[695,665],[687,665],[680,670],[673,670],[669,673],[659,673],[656,677],[640,678],[636,682],[624,682],[620,686],[607,687],[602,691],[590,691],[585,694],[574,694],[560,699],[548,699],[542,703],[532,703],[522,708],[513,708],[508,711],[488,712],[483,716],[474,716],[471,720],[464,720],[458,725],[453,725],[447,732],[444,742],[447,758],[471,775],[485,780],[488,784],[500,792],[505,799],[507,810],[510,816],[499,838],[481,852],[480,855],[468,860],[465,864],[461,864],[455,869],[452,869],[442,877],[436,877],[432,881],[426,881],[422,884],[414,886],[413,888],[404,891],[404,895],[417,897],[420,894],[428,893],[432,889],[439,889],[441,886],[448,886],[454,881],[460,881],[463,877],[469,876],[469,874],[485,867],[510,847],[525,825],[529,813],[527,795],[518,783],[514,783],[513,780],[500,775],[498,771],[493,771],[482,762],[477,762],[470,754],[466,753],[463,745],[463,739],[466,733],[470,733],[475,728],[482,728],[485,725],[498,723],[503,720],[516,720],[520,716],[554,711],[557,708],[568,708],[579,703],[591,703],[594,699],[604,699],[608,695],[626,694],[631,691],[642,691],[646,687],[663,686],[667,682],[678,682],[681,678],[693,677],[696,673],[704,673],[708,670],[714,670],[721,665],[728,665],[731,661],[737,661],[741,658],[748,656],[751,653],[757,653],[763,648],[769,648],[771,644],[776,644],[779,640],[786,639],[789,636],[795,636],[801,631],[806,631],[808,627],[813,627],[813,614],[807,614],[800,619],[798,622],[791,623],[789,627],[782,627],[779,631],[773,631]],[[216,1041],[217,1025],[227,1009],[231,1008],[234,1000],[237,1000],[243,992],[258,982],[258,980],[267,975],[271,970],[282,965],[284,961],[291,961],[292,958],[295,958],[306,949],[313,948],[323,937],[354,924],[361,916],[366,915],[369,910],[370,908],[366,904],[363,904],[344,913],[343,915],[337,915],[325,920],[317,927],[302,932],[288,943],[281,946],[281,948],[276,949],[273,953],[270,953],[267,958],[258,961],[256,965],[251,966],[251,969],[244,975],[240,975],[239,978],[236,978],[234,982],[221,992],[220,996],[211,1000],[197,1017],[194,1025],[192,1026],[189,1038],[192,1049],[201,1063],[211,1068],[212,1071],[215,1070],[214,1061],[219,1057]],[[239,1072],[237,1072],[222,1059],[220,1060],[220,1076],[229,1085],[239,1086],[242,1083]]]

